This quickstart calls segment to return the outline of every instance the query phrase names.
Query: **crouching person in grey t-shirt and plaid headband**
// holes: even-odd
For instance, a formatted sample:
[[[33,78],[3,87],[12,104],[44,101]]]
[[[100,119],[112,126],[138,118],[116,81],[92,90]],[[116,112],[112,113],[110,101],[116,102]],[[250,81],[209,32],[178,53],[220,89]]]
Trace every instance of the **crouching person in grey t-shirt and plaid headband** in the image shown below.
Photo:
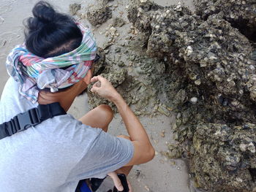
[[[67,112],[89,83],[100,82],[91,91],[116,104],[129,137],[105,133],[113,118],[107,105],[96,107],[80,120],[71,115],[48,118],[0,139],[1,190],[69,192],[75,191],[79,180],[104,178],[112,172],[122,191],[113,171],[128,174],[133,165],[154,157],[145,129],[108,80],[92,78],[97,45],[91,31],[45,1],[35,5],[33,15],[26,23],[25,44],[7,57],[12,78],[1,96],[0,123],[38,104],[58,102]]]

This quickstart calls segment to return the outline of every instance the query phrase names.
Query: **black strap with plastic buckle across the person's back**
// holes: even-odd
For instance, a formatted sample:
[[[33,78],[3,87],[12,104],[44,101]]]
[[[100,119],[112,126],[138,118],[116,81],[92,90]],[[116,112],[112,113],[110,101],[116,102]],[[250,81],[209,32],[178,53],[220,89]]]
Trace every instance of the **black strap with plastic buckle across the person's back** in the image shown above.
[[[67,113],[58,102],[52,104],[39,104],[36,108],[19,113],[8,122],[2,123],[0,125],[0,139],[24,131],[31,126],[37,126],[48,118],[65,114]]]

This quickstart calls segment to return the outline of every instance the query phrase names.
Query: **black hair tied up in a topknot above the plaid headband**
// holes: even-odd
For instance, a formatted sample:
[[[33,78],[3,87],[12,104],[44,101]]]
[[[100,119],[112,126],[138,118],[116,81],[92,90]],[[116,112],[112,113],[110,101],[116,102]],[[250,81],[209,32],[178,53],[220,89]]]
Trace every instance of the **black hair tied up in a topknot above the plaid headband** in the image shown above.
[[[26,20],[26,48],[37,56],[49,58],[79,47],[83,34],[69,15],[56,12],[46,1],[39,1],[34,17]]]

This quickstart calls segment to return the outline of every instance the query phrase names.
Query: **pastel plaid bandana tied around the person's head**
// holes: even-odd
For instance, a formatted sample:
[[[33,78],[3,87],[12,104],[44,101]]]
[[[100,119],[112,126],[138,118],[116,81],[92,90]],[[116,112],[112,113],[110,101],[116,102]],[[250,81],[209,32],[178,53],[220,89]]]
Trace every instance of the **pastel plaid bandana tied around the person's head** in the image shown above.
[[[39,89],[50,88],[56,92],[67,88],[86,76],[96,56],[97,45],[89,28],[78,23],[83,33],[81,45],[69,53],[52,58],[40,58],[26,49],[16,46],[7,56],[7,72],[20,82],[19,92],[33,103],[37,102]],[[67,69],[61,69],[65,66]]]

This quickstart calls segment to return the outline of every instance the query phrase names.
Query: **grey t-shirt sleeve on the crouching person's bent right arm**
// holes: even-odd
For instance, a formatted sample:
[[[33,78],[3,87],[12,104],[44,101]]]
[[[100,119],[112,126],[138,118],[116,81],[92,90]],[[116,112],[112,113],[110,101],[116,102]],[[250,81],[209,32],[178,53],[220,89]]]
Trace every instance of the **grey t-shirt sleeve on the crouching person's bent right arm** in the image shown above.
[[[101,131],[75,166],[75,172],[79,180],[89,177],[103,178],[109,172],[126,165],[132,159],[133,153],[131,141]]]

